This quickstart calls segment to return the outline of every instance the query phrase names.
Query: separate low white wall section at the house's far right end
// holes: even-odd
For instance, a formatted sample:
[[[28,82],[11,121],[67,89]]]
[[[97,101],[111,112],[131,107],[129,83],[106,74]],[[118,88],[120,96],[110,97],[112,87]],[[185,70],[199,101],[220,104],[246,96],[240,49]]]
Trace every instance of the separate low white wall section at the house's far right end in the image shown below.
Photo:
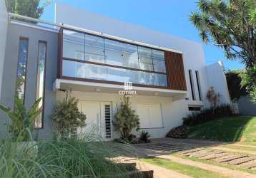
[[[207,66],[208,85],[213,86],[215,91],[220,93],[221,103],[230,103],[230,94],[227,88],[227,80],[224,74],[224,67],[221,61]]]

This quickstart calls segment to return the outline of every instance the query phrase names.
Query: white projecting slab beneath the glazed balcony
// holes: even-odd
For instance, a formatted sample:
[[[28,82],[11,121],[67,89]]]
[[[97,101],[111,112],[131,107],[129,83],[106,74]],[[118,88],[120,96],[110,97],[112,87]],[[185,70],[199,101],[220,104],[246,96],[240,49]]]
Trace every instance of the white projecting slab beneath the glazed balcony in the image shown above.
[[[72,90],[72,91],[80,91],[80,92],[119,94],[120,90],[124,90],[124,85],[56,79],[53,84],[53,89],[54,91]],[[169,90],[169,89],[162,89],[162,88],[146,88],[146,87],[132,86],[132,90],[135,90],[137,92],[137,95],[172,97],[174,100],[182,100],[187,96],[187,91]]]

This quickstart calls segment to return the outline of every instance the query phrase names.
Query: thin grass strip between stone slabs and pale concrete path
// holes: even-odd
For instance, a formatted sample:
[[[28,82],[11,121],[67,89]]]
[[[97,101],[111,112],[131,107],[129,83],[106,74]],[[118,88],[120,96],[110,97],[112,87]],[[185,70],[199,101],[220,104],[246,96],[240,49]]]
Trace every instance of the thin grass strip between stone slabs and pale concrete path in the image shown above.
[[[232,170],[239,170],[239,171],[242,171],[242,172],[248,172],[248,173],[256,174],[255,169],[245,169],[245,168],[235,166],[235,165],[231,165],[231,164],[225,164],[225,163],[221,163],[221,162],[212,162],[210,160],[199,159],[199,158],[196,158],[196,157],[185,157],[183,155],[178,155],[178,154],[172,154],[172,156],[181,157],[183,159],[189,159],[189,160],[192,160],[192,161],[195,161],[195,162],[203,162],[203,163],[206,163],[206,164],[212,164],[212,165],[219,166],[219,167],[226,167],[226,168],[232,169]]]

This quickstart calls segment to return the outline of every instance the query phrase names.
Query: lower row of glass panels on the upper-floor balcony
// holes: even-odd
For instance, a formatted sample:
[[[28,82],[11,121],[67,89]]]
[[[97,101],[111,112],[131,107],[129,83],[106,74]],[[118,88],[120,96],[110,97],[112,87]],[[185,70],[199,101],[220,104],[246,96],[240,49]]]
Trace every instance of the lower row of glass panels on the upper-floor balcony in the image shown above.
[[[132,82],[143,85],[167,86],[167,76],[159,73],[114,68],[109,66],[63,61],[62,75],[73,78],[87,78],[116,82]]]

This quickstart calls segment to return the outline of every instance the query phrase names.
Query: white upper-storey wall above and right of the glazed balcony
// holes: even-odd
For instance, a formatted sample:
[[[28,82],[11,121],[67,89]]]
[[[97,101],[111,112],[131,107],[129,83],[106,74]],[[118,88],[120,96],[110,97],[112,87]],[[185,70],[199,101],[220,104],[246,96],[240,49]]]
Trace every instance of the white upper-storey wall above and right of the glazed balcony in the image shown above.
[[[67,13],[69,11],[69,13]],[[56,23],[64,23],[72,26],[78,26],[80,28],[86,28],[92,31],[99,31],[113,36],[119,36],[134,41],[143,43],[149,43],[155,46],[162,46],[165,48],[172,48],[177,51],[183,52],[184,70],[187,81],[187,90],[189,95],[190,105],[203,105],[202,101],[199,101],[197,93],[197,83],[195,82],[195,93],[197,100],[193,101],[190,95],[190,84],[188,70],[192,69],[195,78],[195,70],[199,70],[200,83],[202,86],[202,97],[205,97],[207,91],[207,78],[205,70],[205,57],[201,43],[195,41],[188,41],[183,38],[178,38],[166,33],[158,31],[152,31],[142,26],[136,26],[132,23],[126,23],[124,21],[117,21],[110,19],[99,14],[93,14],[89,11],[73,8],[67,4],[56,4]],[[204,98],[205,100],[205,98]]]

